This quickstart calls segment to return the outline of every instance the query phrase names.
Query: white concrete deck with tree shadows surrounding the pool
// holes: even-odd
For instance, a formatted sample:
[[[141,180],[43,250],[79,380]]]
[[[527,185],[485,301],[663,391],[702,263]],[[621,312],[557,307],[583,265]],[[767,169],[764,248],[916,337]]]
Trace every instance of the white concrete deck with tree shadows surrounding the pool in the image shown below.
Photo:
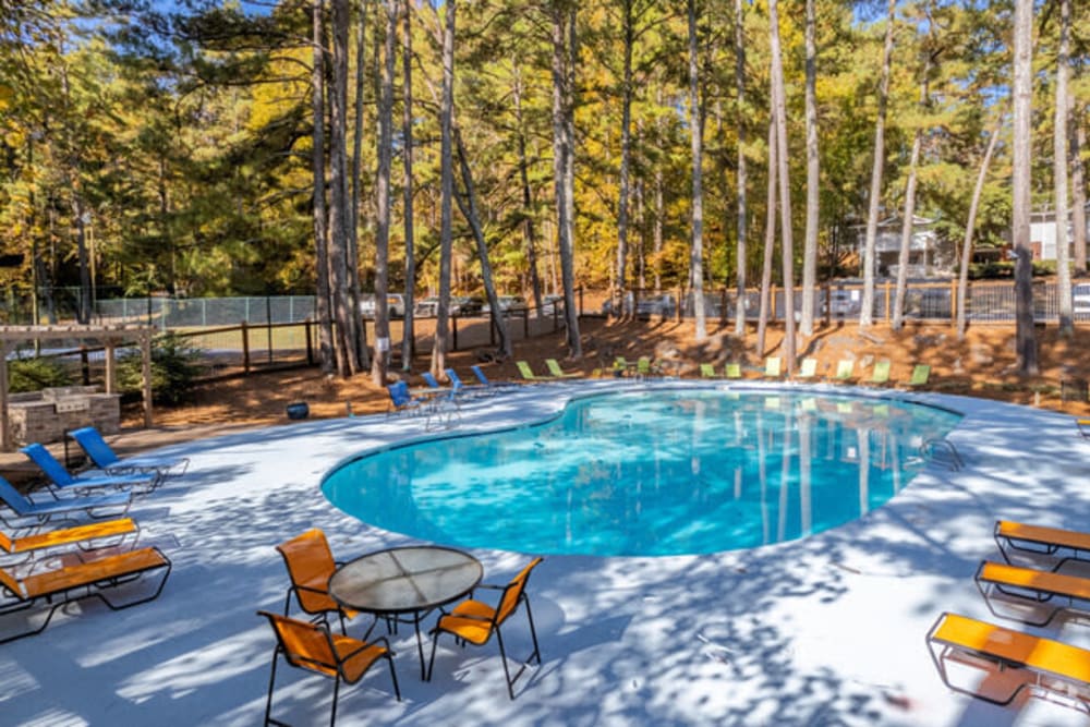
[[[568,392],[629,386],[523,387],[463,407],[459,428],[538,420]],[[403,701],[393,700],[379,664],[342,688],[339,724],[1090,723],[1041,699],[998,707],[956,694],[924,644],[938,614],[952,610],[1090,647],[1086,619],[1058,618],[1043,630],[998,621],[972,583],[979,561],[997,557],[997,518],[1090,530],[1090,440],[1053,412],[894,396],[966,415],[948,437],[965,469],[934,461],[882,508],[797,542],[711,556],[547,557],[529,590],[544,663],[517,684],[517,700],[507,696],[494,643],[458,650],[441,642],[425,683],[411,629],[402,628],[392,639]],[[0,645],[0,724],[261,724],[274,640],[255,611],[281,608],[288,583],[274,546],[314,526],[342,560],[411,543],[336,510],[318,483],[343,458],[423,428],[382,416],[325,420],[162,450],[191,457],[190,471],[132,514],[142,542],[173,560],[166,589],[119,613],[83,602],[41,634]],[[492,583],[526,561],[474,553]],[[505,630],[517,655],[528,653],[522,618]],[[350,633],[365,628],[363,617],[356,621]],[[277,678],[275,716],[328,722],[330,680],[282,665]]]

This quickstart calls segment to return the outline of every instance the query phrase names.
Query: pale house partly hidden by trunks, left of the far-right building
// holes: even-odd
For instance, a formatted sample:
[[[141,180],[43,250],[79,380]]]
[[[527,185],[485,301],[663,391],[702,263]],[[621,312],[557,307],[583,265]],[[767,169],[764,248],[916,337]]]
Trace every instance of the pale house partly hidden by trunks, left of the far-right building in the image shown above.
[[[880,278],[897,276],[900,266],[901,217],[895,216],[879,222],[874,239],[874,272]],[[856,226],[856,251],[863,259],[867,244],[867,228]],[[954,275],[956,256],[953,246],[935,231],[935,220],[915,215],[912,237],[908,250],[909,278],[945,278]],[[863,271],[860,270],[860,275]]]

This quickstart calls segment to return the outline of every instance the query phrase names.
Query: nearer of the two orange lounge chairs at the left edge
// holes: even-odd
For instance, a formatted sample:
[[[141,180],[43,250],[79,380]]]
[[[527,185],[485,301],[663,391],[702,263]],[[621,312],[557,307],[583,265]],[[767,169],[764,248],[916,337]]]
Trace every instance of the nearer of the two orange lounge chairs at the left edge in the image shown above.
[[[144,573],[153,570],[166,569],[155,592],[149,596],[144,596],[125,604],[114,605],[107,597],[112,589],[121,584],[138,579]],[[11,637],[0,639],[0,643],[7,643],[23,637],[40,633],[49,626],[49,620],[53,613],[65,604],[81,598],[95,596],[112,610],[121,610],[148,601],[153,601],[162,592],[162,586],[170,575],[170,560],[162,555],[159,548],[141,548],[118,555],[88,560],[65,566],[58,570],[49,570],[40,573],[26,575],[22,579],[0,568],[0,585],[3,586],[4,597],[0,599],[0,616],[7,616],[15,611],[25,610],[33,607],[38,601],[45,601],[49,606],[46,620],[37,629],[29,629]]]

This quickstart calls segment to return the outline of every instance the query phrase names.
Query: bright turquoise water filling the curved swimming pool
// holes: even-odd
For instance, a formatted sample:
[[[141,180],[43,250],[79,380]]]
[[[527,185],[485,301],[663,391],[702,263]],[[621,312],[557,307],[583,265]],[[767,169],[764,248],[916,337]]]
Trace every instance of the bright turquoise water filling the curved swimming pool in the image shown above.
[[[881,506],[960,415],[901,401],[712,389],[572,401],[548,423],[396,447],[323,490],[360,520],[462,547],[715,553]]]

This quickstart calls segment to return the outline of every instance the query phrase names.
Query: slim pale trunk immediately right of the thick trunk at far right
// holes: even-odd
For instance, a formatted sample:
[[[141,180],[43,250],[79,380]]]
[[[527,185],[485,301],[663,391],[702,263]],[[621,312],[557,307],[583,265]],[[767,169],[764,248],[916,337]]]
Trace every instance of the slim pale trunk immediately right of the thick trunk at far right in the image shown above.
[[[1070,0],[1059,0],[1059,48],[1056,53],[1056,118],[1053,124],[1052,172],[1055,185],[1056,207],[1056,284],[1059,296],[1059,335],[1070,338],[1075,335],[1075,312],[1071,301],[1070,252],[1067,246],[1067,125],[1069,122],[1067,101],[1068,58],[1071,34]]]

